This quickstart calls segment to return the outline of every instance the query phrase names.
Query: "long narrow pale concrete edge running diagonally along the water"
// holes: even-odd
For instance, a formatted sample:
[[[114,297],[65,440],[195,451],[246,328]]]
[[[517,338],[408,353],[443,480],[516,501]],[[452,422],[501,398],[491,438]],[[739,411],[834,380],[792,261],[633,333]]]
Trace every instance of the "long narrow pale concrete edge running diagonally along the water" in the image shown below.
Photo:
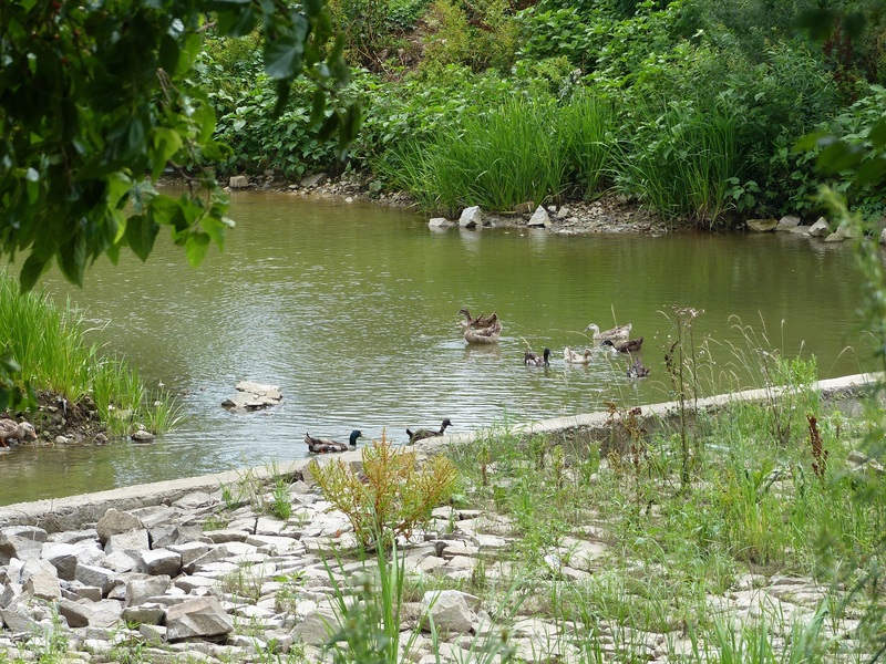
[[[862,373],[838,378],[828,378],[815,383],[815,390],[825,394],[848,392],[856,387],[883,381],[883,374]],[[753,402],[771,398],[783,391],[781,387],[746,390],[732,394],[711,396],[692,405],[699,408],[717,408],[734,402]],[[639,406],[639,417],[656,419],[667,417],[678,412],[678,402],[663,402]],[[602,430],[610,422],[609,413],[586,413],[568,417],[555,417],[540,422],[517,425],[511,429],[512,434],[536,435],[549,433],[565,433],[576,430]],[[433,455],[451,445],[464,445],[475,440],[488,430],[481,429],[473,434],[453,434],[439,438],[429,438],[414,445],[411,449],[424,455]],[[360,461],[359,452],[346,452],[339,455],[318,457],[324,459],[340,458],[346,463]],[[224,485],[234,485],[245,477],[256,479],[270,479],[276,469],[280,475],[301,475],[313,458],[297,459],[277,463],[274,466],[264,465],[253,468],[227,470],[213,475],[171,479],[165,481],[134,485],[120,489],[110,489],[94,494],[81,494],[64,498],[51,498],[33,502],[18,502],[0,506],[0,528],[7,526],[39,526],[49,532],[61,530],[76,530],[85,523],[97,522],[110,508],[130,510],[140,507],[150,507],[161,504],[172,504],[187,494],[195,491],[214,492]]]

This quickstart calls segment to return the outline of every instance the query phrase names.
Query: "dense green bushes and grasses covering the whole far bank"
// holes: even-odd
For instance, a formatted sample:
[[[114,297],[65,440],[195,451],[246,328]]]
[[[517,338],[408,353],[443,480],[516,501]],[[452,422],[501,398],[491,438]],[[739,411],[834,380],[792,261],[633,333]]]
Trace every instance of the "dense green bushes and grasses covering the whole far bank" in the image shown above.
[[[341,95],[363,108],[347,158],[313,134],[307,84],[274,116],[256,34],[210,38],[198,72],[216,137],[231,147],[206,163],[219,177],[354,175],[370,196],[404,191],[451,219],[475,205],[512,214],[616,194],[669,228],[813,221],[826,214],[824,183],[872,226],[886,209],[886,187],[856,177],[863,165],[822,174],[826,144],[800,143],[820,132],[879,156],[870,129],[886,103],[886,54],[876,12],[863,37],[821,43],[762,2],[330,7],[352,66]]]

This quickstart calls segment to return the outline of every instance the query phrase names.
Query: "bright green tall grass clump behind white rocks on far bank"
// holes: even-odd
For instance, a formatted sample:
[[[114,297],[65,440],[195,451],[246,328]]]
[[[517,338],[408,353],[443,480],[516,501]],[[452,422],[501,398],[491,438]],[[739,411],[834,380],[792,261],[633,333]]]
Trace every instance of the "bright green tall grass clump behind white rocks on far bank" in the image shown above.
[[[509,211],[571,189],[594,193],[610,165],[612,126],[612,106],[589,93],[565,107],[517,97],[465,114],[430,143],[404,142],[380,167],[426,209]]]

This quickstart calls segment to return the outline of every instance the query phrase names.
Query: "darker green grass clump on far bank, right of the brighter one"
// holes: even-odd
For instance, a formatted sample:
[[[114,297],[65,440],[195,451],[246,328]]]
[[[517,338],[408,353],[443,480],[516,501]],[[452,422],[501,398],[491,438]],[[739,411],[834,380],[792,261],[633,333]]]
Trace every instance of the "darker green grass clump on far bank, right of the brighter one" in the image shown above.
[[[741,175],[738,118],[713,104],[678,103],[650,103],[639,116],[618,154],[618,187],[672,225],[717,225]]]

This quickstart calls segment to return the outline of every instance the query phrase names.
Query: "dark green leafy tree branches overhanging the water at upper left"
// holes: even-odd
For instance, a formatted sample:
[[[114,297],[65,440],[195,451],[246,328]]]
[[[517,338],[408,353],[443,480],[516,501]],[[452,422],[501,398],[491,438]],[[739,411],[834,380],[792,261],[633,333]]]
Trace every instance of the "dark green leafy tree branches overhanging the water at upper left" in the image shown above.
[[[164,226],[194,264],[223,246],[227,199],[200,166],[227,147],[189,75],[205,34],[255,29],[278,108],[310,79],[321,133],[347,145],[359,112],[327,112],[348,70],[326,0],[0,2],[0,253],[25,257],[23,290],[53,259],[78,284],[102,253],[144,260]],[[167,167],[190,177],[187,194],[154,189]]]

